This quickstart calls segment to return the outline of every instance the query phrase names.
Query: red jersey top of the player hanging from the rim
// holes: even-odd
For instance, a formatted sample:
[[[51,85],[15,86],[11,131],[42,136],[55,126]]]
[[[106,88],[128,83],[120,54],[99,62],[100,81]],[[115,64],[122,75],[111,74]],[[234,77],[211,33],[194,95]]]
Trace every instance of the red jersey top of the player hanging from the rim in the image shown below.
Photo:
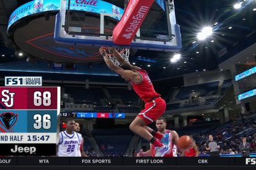
[[[154,97],[160,97],[160,94],[155,92],[153,84],[151,83],[151,80],[149,79],[149,76],[148,76],[148,73],[146,72],[146,70],[140,69],[140,70],[137,70],[137,72],[142,77],[141,82],[134,83],[134,82],[130,81],[130,83],[132,84],[132,87],[135,90],[135,92],[138,94],[138,96],[145,103],[148,103]]]

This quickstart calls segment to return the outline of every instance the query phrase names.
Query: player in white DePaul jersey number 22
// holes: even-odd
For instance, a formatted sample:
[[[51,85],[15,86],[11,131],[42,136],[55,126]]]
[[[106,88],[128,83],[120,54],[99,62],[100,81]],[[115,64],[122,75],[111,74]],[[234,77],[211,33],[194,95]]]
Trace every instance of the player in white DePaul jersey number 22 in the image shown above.
[[[75,121],[66,120],[66,130],[60,132],[60,140],[57,145],[57,155],[59,157],[81,157],[80,145],[82,144],[82,135],[74,132]]]

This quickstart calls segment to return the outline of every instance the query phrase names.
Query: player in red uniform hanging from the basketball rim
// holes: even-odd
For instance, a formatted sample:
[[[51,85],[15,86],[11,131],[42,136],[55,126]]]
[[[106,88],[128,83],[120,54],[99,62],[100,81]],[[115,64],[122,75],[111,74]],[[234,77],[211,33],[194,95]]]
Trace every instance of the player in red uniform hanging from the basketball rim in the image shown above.
[[[168,136],[155,132],[146,126],[146,124],[152,123],[157,120],[158,117],[163,115],[166,108],[165,100],[160,97],[160,94],[155,92],[146,70],[127,63],[114,48],[111,48],[110,50],[112,50],[113,56],[119,63],[121,63],[121,67],[115,66],[115,64],[108,58],[105,49],[105,47],[101,47],[99,52],[103,56],[109,69],[118,73],[118,75],[121,75],[124,80],[129,81],[138,96],[146,103],[145,108],[130,124],[130,130],[152,143],[155,147],[156,157],[165,155],[166,152],[169,151],[169,147],[165,146],[163,141],[168,140],[166,139]]]

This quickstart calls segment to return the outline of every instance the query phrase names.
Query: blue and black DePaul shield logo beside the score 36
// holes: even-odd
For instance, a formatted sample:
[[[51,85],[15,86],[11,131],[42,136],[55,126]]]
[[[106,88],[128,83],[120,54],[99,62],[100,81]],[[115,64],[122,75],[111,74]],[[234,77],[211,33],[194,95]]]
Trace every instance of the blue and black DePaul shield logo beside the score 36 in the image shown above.
[[[0,115],[0,122],[8,130],[16,123],[17,119],[18,119],[18,115],[13,114],[12,112],[5,112]]]

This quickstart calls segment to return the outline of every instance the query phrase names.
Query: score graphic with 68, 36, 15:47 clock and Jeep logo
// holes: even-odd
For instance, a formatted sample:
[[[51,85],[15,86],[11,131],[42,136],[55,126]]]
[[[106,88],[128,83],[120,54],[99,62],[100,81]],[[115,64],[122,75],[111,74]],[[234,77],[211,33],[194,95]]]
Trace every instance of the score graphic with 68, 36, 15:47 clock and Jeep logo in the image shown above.
[[[55,155],[60,87],[0,87],[0,155]]]

